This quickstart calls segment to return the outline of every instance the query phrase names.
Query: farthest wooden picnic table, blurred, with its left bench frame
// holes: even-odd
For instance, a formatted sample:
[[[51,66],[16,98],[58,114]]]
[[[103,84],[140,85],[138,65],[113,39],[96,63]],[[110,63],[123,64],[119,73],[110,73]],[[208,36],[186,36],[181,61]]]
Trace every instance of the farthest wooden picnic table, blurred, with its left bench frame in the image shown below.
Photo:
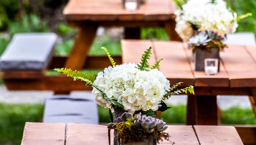
[[[83,82],[74,82],[63,75],[48,75],[46,71],[61,67],[104,69],[111,65],[107,56],[87,55],[99,26],[125,27],[126,39],[140,39],[140,27],[164,27],[171,40],[181,40],[175,32],[175,9],[172,0],[147,0],[135,12],[123,9],[121,0],[69,0],[63,14],[71,26],[80,29],[71,54],[49,57],[47,68],[38,71],[2,70],[1,77],[9,90],[53,90],[57,94],[88,90]],[[116,64],[122,63],[120,56],[113,58]]]

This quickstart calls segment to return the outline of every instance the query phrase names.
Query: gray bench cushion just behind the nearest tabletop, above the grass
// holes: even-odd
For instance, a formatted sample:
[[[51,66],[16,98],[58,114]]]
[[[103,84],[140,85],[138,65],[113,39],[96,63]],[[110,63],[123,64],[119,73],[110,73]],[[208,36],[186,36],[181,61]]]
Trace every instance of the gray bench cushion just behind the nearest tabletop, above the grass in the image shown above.
[[[92,93],[83,98],[68,95],[47,98],[43,122],[99,124],[97,104],[92,98]]]

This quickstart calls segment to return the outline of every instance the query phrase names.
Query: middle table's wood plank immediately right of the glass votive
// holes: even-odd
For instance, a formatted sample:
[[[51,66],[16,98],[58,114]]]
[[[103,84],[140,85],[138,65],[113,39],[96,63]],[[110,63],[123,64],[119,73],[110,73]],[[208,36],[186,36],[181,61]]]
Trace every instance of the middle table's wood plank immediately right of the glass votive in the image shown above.
[[[256,63],[244,46],[229,45],[220,53],[230,87],[256,87]]]

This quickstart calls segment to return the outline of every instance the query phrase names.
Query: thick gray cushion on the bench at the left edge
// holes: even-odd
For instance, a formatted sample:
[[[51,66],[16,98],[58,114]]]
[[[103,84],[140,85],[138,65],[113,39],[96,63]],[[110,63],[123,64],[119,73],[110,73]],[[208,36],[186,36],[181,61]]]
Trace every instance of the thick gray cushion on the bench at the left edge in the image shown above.
[[[12,38],[0,58],[2,70],[41,70],[53,53],[54,33],[22,33]]]

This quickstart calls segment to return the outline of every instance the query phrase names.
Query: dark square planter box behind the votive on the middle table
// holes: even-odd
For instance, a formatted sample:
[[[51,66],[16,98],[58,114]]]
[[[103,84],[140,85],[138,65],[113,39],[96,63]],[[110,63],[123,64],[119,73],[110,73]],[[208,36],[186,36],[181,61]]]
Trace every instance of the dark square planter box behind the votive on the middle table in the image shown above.
[[[213,48],[211,53],[207,53],[205,50],[196,49],[195,50],[195,70],[204,71],[204,60],[206,58],[216,58],[219,60],[218,72],[220,71],[220,49]]]

